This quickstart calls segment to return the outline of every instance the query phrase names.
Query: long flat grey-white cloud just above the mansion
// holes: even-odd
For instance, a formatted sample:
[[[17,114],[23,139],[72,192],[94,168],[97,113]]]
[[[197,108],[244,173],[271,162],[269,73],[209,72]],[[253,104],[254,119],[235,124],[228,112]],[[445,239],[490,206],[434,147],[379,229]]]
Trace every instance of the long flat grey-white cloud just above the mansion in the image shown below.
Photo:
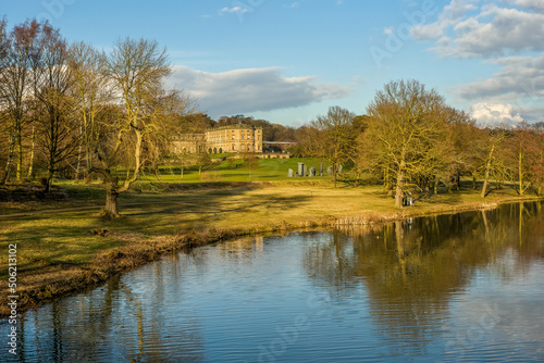
[[[339,99],[353,90],[318,82],[316,76],[284,77],[277,67],[222,73],[174,66],[169,86],[183,88],[212,115],[296,108],[325,99]]]

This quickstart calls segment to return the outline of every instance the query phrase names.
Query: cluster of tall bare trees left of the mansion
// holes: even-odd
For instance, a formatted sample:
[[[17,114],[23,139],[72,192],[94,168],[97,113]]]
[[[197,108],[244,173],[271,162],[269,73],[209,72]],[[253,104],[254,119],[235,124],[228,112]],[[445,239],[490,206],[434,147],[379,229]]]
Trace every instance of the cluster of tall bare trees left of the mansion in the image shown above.
[[[0,184],[46,172],[99,177],[106,213],[141,165],[159,163],[171,133],[196,112],[193,99],[166,89],[171,75],[157,41],[119,39],[110,52],[69,43],[47,22],[28,20],[8,29],[0,22]],[[122,174],[119,171],[123,171]]]

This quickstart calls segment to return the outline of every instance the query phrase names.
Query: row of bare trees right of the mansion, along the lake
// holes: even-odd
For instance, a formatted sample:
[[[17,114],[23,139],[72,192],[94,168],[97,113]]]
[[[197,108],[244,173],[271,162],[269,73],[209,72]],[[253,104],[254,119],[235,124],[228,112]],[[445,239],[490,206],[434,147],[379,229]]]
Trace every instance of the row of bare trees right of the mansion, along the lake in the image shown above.
[[[542,195],[544,123],[515,128],[477,127],[466,112],[446,104],[435,89],[418,80],[395,80],[376,91],[367,114],[356,116],[333,107],[326,115],[297,130],[298,153],[323,158],[333,165],[350,163],[380,180],[397,206],[410,191],[436,193],[438,185],[458,189],[461,175],[500,186],[515,182],[519,195],[532,188]],[[336,184],[336,170],[333,178]]]

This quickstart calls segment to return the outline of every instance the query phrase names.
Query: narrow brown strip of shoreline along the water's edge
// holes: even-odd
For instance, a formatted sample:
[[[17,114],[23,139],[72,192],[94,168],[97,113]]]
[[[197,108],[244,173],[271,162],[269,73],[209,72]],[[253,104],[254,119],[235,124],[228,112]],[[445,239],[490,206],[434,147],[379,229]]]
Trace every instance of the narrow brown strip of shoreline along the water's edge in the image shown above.
[[[110,231],[109,228],[98,228],[94,235],[101,238],[111,238],[125,243],[122,247],[107,249],[96,255],[92,263],[71,264],[57,263],[38,268],[37,271],[24,271],[20,273],[17,283],[18,296],[17,313],[38,308],[42,304],[58,301],[74,296],[78,292],[96,288],[109,278],[133,271],[149,262],[157,261],[169,253],[190,250],[195,247],[227,241],[234,238],[257,235],[285,235],[293,231],[331,230],[338,227],[366,227],[401,221],[410,217],[424,217],[442,214],[456,214],[469,211],[491,210],[500,204],[542,201],[542,197],[511,197],[490,202],[459,202],[454,205],[435,205],[424,209],[405,208],[395,211],[361,210],[357,213],[344,216],[312,215],[293,222],[267,223],[264,225],[249,225],[247,227],[207,227],[201,230],[193,230],[182,235],[163,235],[152,238],[143,237],[139,233]],[[21,286],[34,286],[33,288],[21,288]],[[9,316],[8,290],[2,291],[0,298],[0,317]]]

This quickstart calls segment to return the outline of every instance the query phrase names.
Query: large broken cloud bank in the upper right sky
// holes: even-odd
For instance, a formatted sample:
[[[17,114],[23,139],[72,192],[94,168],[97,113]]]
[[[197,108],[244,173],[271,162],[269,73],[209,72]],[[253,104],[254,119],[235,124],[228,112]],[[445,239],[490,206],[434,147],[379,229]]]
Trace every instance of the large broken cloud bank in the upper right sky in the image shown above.
[[[432,41],[430,50],[442,58],[481,59],[499,67],[490,77],[454,88],[461,102],[472,103],[471,113],[480,124],[514,126],[522,118],[540,121],[544,1],[452,0],[435,22],[413,26],[410,34],[417,40]]]

